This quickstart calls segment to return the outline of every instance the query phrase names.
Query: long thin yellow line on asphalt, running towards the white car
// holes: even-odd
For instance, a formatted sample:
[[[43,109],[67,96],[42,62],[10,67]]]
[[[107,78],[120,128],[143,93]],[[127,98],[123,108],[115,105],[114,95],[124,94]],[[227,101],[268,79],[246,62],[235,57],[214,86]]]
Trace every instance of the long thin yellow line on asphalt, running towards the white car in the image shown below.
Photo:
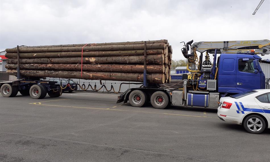
[[[109,109],[109,108],[77,107],[77,106],[47,105],[47,104],[41,104],[41,105],[45,105],[45,106],[56,106],[56,107],[84,108],[84,109],[99,109],[99,110],[129,111],[129,112],[152,113],[152,114],[165,114],[165,115],[178,115],[178,116],[186,116],[186,117],[204,117],[204,116],[196,116],[196,115],[183,115],[183,114],[170,114],[170,113],[155,113],[155,112],[148,112],[148,111],[121,110],[121,109]],[[204,117],[204,118],[215,118],[215,117]]]

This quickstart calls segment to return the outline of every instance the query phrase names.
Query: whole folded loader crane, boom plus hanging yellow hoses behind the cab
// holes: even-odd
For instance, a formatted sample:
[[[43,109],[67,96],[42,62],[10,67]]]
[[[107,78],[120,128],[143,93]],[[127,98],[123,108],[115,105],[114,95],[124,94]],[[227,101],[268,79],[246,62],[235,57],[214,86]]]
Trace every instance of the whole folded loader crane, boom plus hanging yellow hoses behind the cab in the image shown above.
[[[182,42],[181,42],[182,43]],[[269,40],[247,40],[247,41],[189,41],[184,43],[182,53],[188,59],[187,69],[190,72],[200,72],[202,67],[211,67],[208,53],[254,53],[259,55],[270,54]],[[193,43],[193,44],[192,44]],[[188,54],[190,46],[190,54]],[[200,52],[198,57],[196,51]],[[206,52],[205,61],[202,62],[203,52]]]

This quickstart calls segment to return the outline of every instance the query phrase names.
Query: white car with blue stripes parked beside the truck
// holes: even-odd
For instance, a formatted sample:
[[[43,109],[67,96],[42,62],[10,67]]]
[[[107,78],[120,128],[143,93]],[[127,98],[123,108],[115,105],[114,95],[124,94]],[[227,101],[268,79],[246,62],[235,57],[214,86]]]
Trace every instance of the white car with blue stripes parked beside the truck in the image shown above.
[[[218,117],[227,122],[243,125],[253,134],[270,128],[270,90],[252,90],[242,94],[221,97]]]

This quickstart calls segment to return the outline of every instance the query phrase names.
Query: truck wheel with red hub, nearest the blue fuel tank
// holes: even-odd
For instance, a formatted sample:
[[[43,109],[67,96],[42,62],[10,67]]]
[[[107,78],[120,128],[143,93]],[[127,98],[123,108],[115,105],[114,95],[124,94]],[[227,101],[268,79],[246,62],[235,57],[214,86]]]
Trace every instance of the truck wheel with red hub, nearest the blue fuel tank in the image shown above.
[[[157,91],[151,95],[151,105],[155,109],[164,109],[168,106],[168,104],[169,97],[165,92]]]

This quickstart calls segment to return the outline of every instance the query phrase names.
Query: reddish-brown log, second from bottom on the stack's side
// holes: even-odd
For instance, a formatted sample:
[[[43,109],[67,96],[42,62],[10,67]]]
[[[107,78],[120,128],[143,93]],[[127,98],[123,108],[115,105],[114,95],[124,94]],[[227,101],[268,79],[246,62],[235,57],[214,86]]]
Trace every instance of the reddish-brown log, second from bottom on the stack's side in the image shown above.
[[[7,69],[17,69],[17,64],[6,64]],[[81,64],[20,64],[22,70],[81,71]],[[147,65],[148,73],[164,73],[164,65]],[[83,71],[143,73],[144,65],[91,65],[84,64]],[[166,69],[167,70],[167,69]]]

